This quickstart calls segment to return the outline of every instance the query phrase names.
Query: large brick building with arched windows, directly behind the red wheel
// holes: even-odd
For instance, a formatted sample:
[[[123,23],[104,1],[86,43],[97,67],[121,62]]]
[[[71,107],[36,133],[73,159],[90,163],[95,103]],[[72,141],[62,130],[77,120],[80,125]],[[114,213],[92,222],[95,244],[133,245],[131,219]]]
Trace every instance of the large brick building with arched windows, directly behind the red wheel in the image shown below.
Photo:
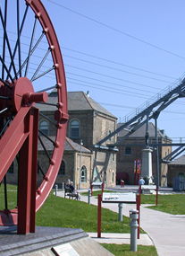
[[[39,130],[51,140],[55,139],[54,111],[57,103],[54,90],[48,95],[48,107],[36,104],[39,115]],[[52,105],[53,104],[53,105]],[[116,177],[116,156],[114,150],[97,148],[98,140],[116,128],[117,119],[97,102],[89,93],[68,93],[68,128],[65,140],[63,160],[55,183],[61,188],[67,180],[73,181],[75,188],[88,189],[92,181],[105,181],[105,186],[114,187]],[[42,136],[42,135],[40,135]],[[115,142],[116,137],[109,143]],[[53,152],[53,144],[44,136],[42,142],[48,156]],[[106,144],[106,143],[105,143]],[[43,170],[48,169],[49,161],[43,146],[38,141],[38,185],[43,180]],[[42,168],[39,168],[42,166]],[[17,162],[14,161],[7,173],[7,182],[17,183]],[[80,178],[81,170],[81,178]]]

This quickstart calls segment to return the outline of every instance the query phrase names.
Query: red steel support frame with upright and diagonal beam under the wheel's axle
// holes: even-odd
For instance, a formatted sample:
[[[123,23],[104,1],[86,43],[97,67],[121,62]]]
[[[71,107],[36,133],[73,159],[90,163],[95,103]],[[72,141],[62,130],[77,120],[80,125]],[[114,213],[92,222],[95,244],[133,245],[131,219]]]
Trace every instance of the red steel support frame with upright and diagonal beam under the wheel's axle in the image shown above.
[[[20,152],[18,184],[18,234],[35,232],[38,154],[38,109],[23,107],[1,139],[1,172],[5,173]],[[11,154],[10,154],[11,153]],[[7,159],[7,155],[10,155]],[[17,212],[9,212],[13,218]]]

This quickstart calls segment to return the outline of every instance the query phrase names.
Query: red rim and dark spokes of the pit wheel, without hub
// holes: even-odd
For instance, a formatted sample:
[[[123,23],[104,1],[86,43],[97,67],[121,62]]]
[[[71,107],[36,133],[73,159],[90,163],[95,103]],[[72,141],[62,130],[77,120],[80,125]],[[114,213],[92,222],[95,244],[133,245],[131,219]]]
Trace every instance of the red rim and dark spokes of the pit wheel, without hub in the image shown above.
[[[12,13],[13,4],[16,10],[14,15]],[[52,22],[44,5],[39,0],[17,0],[11,1],[10,4],[5,0],[3,5],[0,13],[0,30],[3,34],[0,46],[0,72],[2,72],[0,75],[1,137],[4,136],[6,128],[9,125],[11,126],[13,116],[16,114],[10,100],[4,98],[7,97],[7,92],[10,91],[7,89],[9,88],[8,85],[13,86],[16,81],[19,81],[20,77],[26,76],[33,84],[34,92],[49,92],[49,90],[55,89],[58,99],[57,103],[54,104],[55,106],[52,105],[55,111],[53,111],[54,116],[51,119],[47,119],[42,114],[42,118],[47,119],[55,127],[55,136],[52,136],[52,138],[44,137],[40,133],[38,137],[39,145],[43,151],[46,150],[46,141],[54,144],[53,150],[50,150],[49,154],[45,152],[48,162],[45,170],[43,171],[42,166],[39,165],[44,179],[36,191],[36,211],[38,211],[54,186],[63,158],[68,119],[63,59]],[[8,19],[10,17],[11,21]],[[13,26],[13,17],[16,21],[15,26]],[[32,22],[30,22],[30,19]],[[13,25],[11,25],[11,22]],[[13,31],[13,28],[15,31]],[[50,85],[51,81],[54,84],[53,86]],[[48,85],[44,86],[43,84]],[[45,104],[46,106],[51,108],[51,105]],[[3,179],[4,173],[0,172],[0,181]],[[9,210],[7,202],[5,202],[5,210],[1,211],[0,215],[4,216],[7,212],[13,221],[9,222],[6,217],[6,223],[4,224],[3,217],[1,217],[0,225],[17,224],[17,209]]]

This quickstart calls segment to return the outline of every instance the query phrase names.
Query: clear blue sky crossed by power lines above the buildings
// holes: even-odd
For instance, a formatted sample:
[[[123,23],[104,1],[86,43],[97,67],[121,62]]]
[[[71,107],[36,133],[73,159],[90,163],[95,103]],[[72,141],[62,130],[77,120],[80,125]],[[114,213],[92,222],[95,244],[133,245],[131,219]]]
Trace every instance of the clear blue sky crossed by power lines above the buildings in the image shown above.
[[[42,2],[62,49],[68,91],[89,91],[118,120],[185,73],[184,1]],[[158,127],[185,137],[184,121],[181,98],[160,114]]]

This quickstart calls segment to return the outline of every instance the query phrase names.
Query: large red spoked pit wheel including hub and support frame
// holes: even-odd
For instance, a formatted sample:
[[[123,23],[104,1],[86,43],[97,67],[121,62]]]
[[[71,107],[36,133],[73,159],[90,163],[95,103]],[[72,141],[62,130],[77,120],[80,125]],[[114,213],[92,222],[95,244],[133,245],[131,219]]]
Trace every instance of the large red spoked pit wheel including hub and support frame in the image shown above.
[[[18,233],[26,234],[35,232],[35,212],[52,190],[63,158],[68,119],[66,82],[55,30],[39,0],[4,0],[0,18],[0,182],[4,181],[5,195],[0,225],[18,224]],[[52,90],[57,93],[56,104],[47,97]],[[38,131],[35,102],[42,108],[44,105],[45,111],[46,107],[52,109],[49,117],[40,113],[53,126],[52,137]],[[46,154],[47,166],[41,166],[38,146]],[[18,204],[11,209],[6,173],[16,161]],[[43,181],[37,187],[38,169]]]

